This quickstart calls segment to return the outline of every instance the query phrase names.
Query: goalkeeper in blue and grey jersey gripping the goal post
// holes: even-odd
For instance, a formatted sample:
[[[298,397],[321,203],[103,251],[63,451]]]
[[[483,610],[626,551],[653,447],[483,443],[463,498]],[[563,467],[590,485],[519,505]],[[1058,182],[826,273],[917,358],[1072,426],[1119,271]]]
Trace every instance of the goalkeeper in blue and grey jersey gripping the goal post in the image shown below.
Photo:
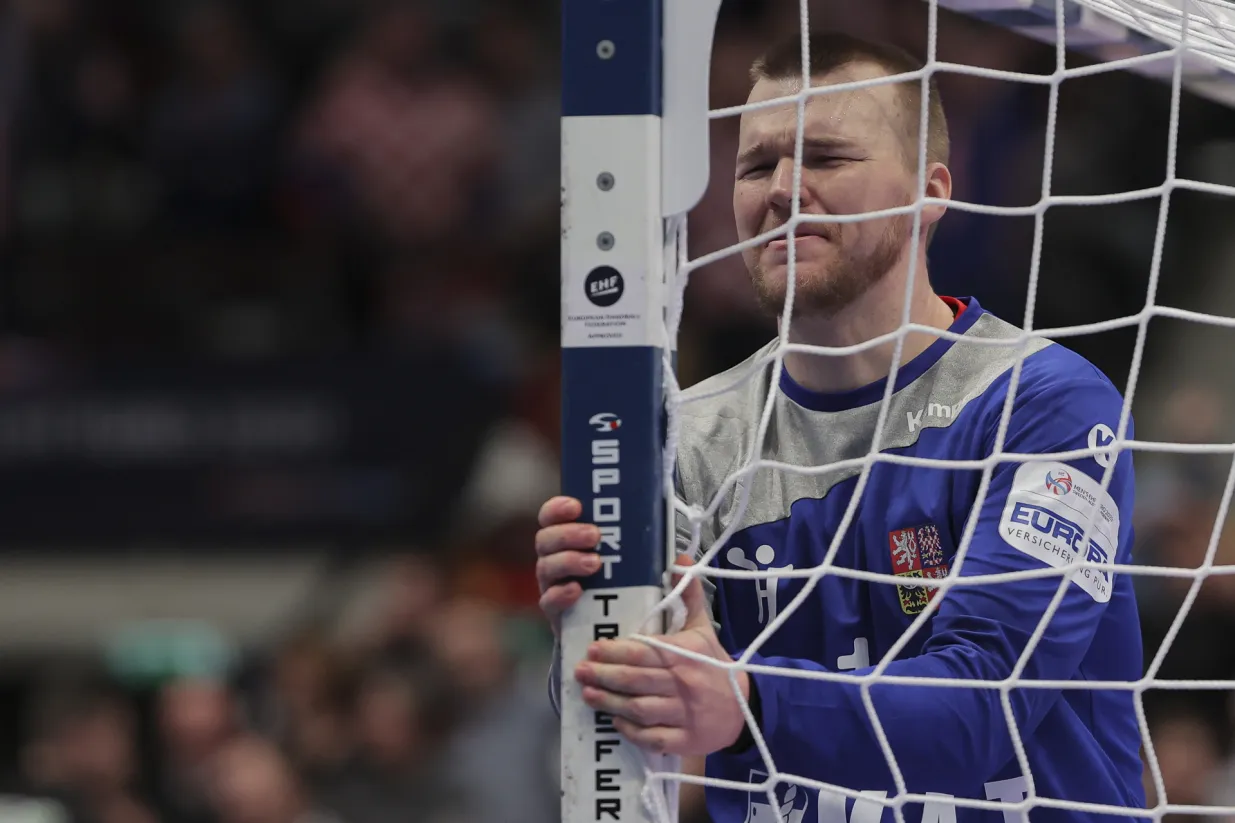
[[[895,48],[835,33],[814,35],[809,56],[813,85],[921,68]],[[752,79],[751,103],[798,94],[800,41],[793,37],[773,47],[752,67]],[[809,99],[798,189],[803,214],[857,214],[914,203],[920,90],[921,84],[911,80]],[[946,200],[952,188],[948,136],[934,80],[926,105],[925,193]],[[797,127],[792,101],[742,114],[734,182],[734,215],[742,240],[790,219]],[[1034,798],[1028,812],[1034,823],[1110,817],[1061,808],[1052,801],[1145,806],[1132,692],[1084,688],[1087,681],[1136,681],[1142,671],[1131,578],[1109,567],[1129,561],[1131,456],[1099,450],[1114,440],[1123,400],[1097,368],[1063,346],[1042,339],[1008,345],[1019,329],[972,298],[935,294],[926,247],[944,213],[937,204],[923,208],[916,243],[913,215],[894,215],[800,224],[793,237],[742,252],[761,303],[779,315],[788,243],[794,243],[788,336],[795,344],[850,346],[897,331],[906,278],[914,277],[909,320],[961,339],[908,334],[879,450],[952,461],[981,461],[997,450],[1019,457],[995,463],[984,496],[981,470],[874,463],[832,563],[893,575],[897,585],[825,575],[751,660],[782,670],[863,673],[930,606],[929,623],[884,670],[884,676],[902,680],[871,688],[887,749],[857,683],[740,675],[778,770],[867,795],[846,800],[782,783],[779,808],[769,809],[761,792],[709,787],[715,823],[876,823],[881,814],[892,821],[893,812],[871,800],[895,792],[888,751],[908,791],[931,795],[925,803],[905,804],[909,823],[1025,821],[1018,808],[973,808],[950,798],[1019,803],[1030,792],[1030,776]],[[773,346],[774,341],[752,360]],[[682,407],[674,478],[682,499],[705,508],[725,478],[752,458],[806,467],[865,456],[876,435],[892,355],[890,341],[844,357],[788,352],[776,384],[771,362],[753,378],[739,381],[752,367],[748,361],[688,392],[688,398],[700,399]],[[1019,360],[1024,362],[1018,374]],[[1015,400],[1000,440],[1004,399],[1014,382]],[[724,387],[730,388],[703,397]],[[774,397],[767,436],[755,444],[769,393]],[[1087,449],[1089,455],[1079,458],[1052,456]],[[730,492],[703,524],[701,545],[709,546],[732,526],[732,539],[713,561],[720,567],[816,567],[857,478],[857,468],[761,470],[742,481],[750,486],[750,498],[740,521],[732,523],[739,493]],[[580,596],[571,578],[599,568],[593,551],[599,531],[576,523],[579,515],[579,502],[568,498],[548,500],[540,513],[541,607],[555,629],[561,613]],[[971,520],[972,541],[957,557]],[[690,535],[680,519],[678,526],[678,544],[685,550]],[[1076,566],[1082,561],[1108,567]],[[992,575],[1002,577],[965,585],[965,578]],[[939,582],[948,578],[961,585],[940,589]],[[777,619],[805,582],[776,576],[715,578],[705,587],[695,580],[685,591],[687,625],[666,641],[731,660]],[[1061,586],[1062,596],[1039,635]],[[1015,733],[997,686],[1013,676]],[[727,673],[719,667],[616,639],[594,644],[574,671],[555,670],[553,677],[555,685],[558,677],[576,677],[588,706],[613,714],[619,732],[640,746],[706,755],[711,777],[763,779],[762,758]],[[913,685],[904,678],[932,682]],[[969,681],[984,685],[966,685]],[[1055,685],[1035,687],[1032,681]],[[1030,775],[1015,753],[1018,740]]]

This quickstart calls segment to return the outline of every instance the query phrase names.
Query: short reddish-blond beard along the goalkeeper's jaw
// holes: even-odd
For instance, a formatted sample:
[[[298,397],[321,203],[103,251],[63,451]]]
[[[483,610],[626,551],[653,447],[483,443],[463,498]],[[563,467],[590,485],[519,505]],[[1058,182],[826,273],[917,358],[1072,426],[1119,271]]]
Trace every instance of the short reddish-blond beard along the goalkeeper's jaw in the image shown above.
[[[913,217],[893,217],[866,257],[856,257],[842,247],[840,260],[826,271],[806,281],[797,278],[790,316],[831,318],[869,292],[900,258],[913,226]],[[776,318],[782,316],[788,277],[782,283],[772,284],[756,263],[751,282],[760,306]]]

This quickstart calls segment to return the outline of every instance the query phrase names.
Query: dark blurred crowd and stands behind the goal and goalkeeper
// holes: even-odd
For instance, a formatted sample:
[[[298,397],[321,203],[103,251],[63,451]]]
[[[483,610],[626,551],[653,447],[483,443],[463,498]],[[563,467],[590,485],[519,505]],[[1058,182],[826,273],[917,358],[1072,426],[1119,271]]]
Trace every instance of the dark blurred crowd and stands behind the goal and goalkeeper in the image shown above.
[[[810,6],[926,53],[920,0]],[[797,25],[725,0],[713,106]],[[947,12],[937,49],[1055,64]],[[557,819],[531,551],[559,458],[557,56],[545,0],[0,0],[0,821]],[[1049,87],[940,84],[956,196],[1036,201]],[[1065,83],[1051,190],[1161,184],[1168,111],[1149,79]],[[1181,112],[1177,174],[1235,183],[1235,115]],[[735,142],[713,121],[693,257],[735,240]],[[1132,315],[1158,215],[1052,209],[1034,267],[1031,217],[953,210],[932,276],[1023,323],[1036,273],[1035,327]],[[1173,193],[1156,303],[1235,316],[1233,217]],[[1228,332],[1147,331],[1137,435],[1235,441]],[[739,258],[697,272],[683,382],[771,334]],[[1135,326],[1067,342],[1134,372]],[[1140,562],[1233,562],[1229,471],[1137,456]],[[1231,580],[1139,580],[1147,665],[1177,631],[1158,676],[1235,676]],[[1235,802],[1230,692],[1145,704],[1170,801]]]

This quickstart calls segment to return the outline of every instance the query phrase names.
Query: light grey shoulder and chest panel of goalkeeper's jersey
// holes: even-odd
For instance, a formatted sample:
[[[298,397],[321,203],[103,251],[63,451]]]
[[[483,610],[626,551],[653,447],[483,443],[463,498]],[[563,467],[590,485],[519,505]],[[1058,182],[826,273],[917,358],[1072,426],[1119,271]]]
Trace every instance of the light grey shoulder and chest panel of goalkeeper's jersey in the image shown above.
[[[925,429],[952,425],[961,410],[981,398],[1018,360],[1053,345],[1042,337],[1016,345],[1021,334],[1016,326],[982,314],[937,362],[892,395],[879,450],[913,446]],[[860,462],[871,449],[882,403],[819,412],[779,390],[772,398],[763,441],[755,442],[772,392],[774,347],[776,341],[683,393],[676,481],[687,504],[703,510],[716,507],[700,524],[704,549],[735,519],[735,531],[740,531],[788,517],[795,500],[825,497],[837,483],[858,475]],[[811,471],[761,470],[737,476],[755,455]],[[851,465],[819,471],[845,461]],[[746,507],[739,513],[747,487]],[[677,531],[679,546],[692,536],[682,515]]]

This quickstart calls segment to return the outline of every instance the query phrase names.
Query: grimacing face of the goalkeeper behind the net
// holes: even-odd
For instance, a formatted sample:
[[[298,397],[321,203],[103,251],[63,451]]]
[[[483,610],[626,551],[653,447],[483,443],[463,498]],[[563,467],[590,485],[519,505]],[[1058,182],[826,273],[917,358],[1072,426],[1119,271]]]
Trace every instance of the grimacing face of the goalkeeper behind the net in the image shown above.
[[[814,85],[887,74],[860,63],[816,77]],[[797,94],[800,80],[761,79],[750,103]],[[905,112],[899,84],[813,96],[803,124],[802,214],[857,214],[914,200],[918,173],[906,163]],[[793,103],[742,114],[734,215],[748,240],[789,221]],[[773,240],[742,252],[763,306],[779,314],[788,282],[789,242],[795,242],[794,314],[832,315],[861,297],[897,263],[913,232],[913,215],[848,224],[803,222],[797,240]],[[923,227],[925,232],[925,226]]]

